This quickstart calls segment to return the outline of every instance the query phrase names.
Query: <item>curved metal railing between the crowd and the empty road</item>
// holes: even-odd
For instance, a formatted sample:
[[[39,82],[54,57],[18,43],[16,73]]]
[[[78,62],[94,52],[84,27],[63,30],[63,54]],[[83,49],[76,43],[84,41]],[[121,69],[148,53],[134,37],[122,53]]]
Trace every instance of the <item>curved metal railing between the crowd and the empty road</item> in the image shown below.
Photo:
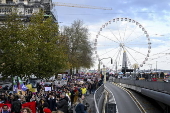
[[[96,113],[102,113],[103,102],[104,102],[104,85],[102,84],[94,93]]]

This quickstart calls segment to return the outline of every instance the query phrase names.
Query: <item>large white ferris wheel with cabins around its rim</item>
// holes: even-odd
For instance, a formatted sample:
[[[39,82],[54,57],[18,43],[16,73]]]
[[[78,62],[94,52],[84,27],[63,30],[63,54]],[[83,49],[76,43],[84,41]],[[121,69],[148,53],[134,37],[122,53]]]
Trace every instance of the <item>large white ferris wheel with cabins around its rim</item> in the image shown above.
[[[122,66],[123,54],[126,53],[128,68],[133,68],[134,64],[143,67],[151,52],[151,42],[148,32],[139,22],[115,18],[101,26],[95,37],[94,49],[98,61],[112,58],[116,66]],[[100,64],[109,66],[110,60],[102,60]]]

